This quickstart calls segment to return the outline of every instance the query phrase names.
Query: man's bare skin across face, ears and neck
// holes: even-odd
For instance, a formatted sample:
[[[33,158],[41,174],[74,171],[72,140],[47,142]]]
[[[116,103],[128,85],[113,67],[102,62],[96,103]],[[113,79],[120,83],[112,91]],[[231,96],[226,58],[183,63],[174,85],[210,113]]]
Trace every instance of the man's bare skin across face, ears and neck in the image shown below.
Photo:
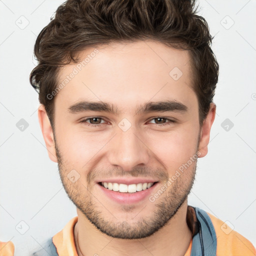
[[[77,207],[77,253],[184,255],[191,239],[186,209],[196,160],[153,202],[146,197],[132,204],[117,203],[97,182],[108,177],[150,177],[158,181],[150,192],[154,195],[189,157],[196,152],[198,157],[207,154],[216,106],[210,104],[200,126],[188,51],[149,40],[115,42],[97,49],[54,97],[54,134],[44,106],[38,108],[49,158],[58,162],[63,186]],[[87,48],[79,57],[84,59],[93,50]],[[62,67],[58,81],[76,65]],[[169,75],[175,66],[182,71],[178,80]],[[167,99],[181,102],[187,110],[136,112],[137,105]],[[109,102],[119,112],[68,111],[81,100]],[[159,116],[163,119],[157,122]],[[99,119],[93,122],[89,117]],[[126,131],[118,126],[123,118],[131,124]],[[92,127],[88,123],[102,124]],[[74,183],[67,177],[72,169],[80,175]]]

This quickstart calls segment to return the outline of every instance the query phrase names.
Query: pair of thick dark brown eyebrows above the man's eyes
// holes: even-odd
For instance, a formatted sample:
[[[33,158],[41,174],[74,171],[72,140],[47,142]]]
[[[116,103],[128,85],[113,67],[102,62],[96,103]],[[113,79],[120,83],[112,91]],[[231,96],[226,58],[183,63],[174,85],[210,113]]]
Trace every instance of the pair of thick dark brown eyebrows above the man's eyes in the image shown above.
[[[117,107],[108,102],[92,102],[92,101],[79,101],[70,107],[68,107],[70,113],[79,113],[84,111],[99,111],[108,112],[118,115]],[[175,100],[163,100],[163,101],[149,101],[143,105],[139,105],[136,108],[137,113],[149,113],[149,112],[186,112],[187,106],[181,102]]]

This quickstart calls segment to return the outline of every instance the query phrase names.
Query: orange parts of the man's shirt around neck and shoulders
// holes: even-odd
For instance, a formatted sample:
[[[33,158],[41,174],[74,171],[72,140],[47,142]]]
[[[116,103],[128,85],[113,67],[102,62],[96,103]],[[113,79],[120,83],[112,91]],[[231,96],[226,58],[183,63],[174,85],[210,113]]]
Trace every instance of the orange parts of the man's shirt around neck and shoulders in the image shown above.
[[[256,250],[252,243],[241,234],[226,225],[222,220],[214,217],[206,212],[214,226],[217,238],[216,256],[256,256]],[[187,224],[191,229],[192,236],[194,234],[193,224],[195,222],[194,211],[191,206],[187,208]],[[71,218],[64,228],[52,237],[52,242],[56,247],[59,256],[78,256],[74,242],[74,226],[78,217]],[[222,229],[221,229],[222,227]],[[229,229],[228,232],[223,231]],[[192,238],[184,256],[190,256],[192,246]],[[11,241],[0,241],[0,256],[13,256],[14,245]]]

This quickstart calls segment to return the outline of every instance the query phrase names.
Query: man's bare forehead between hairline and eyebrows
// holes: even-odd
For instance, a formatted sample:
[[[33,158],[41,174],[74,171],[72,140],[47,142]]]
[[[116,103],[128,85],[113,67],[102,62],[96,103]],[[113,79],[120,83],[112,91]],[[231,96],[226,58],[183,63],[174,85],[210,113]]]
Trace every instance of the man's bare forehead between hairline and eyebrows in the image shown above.
[[[88,47],[79,61],[60,68],[55,96],[61,104],[85,98],[133,107],[135,101],[196,100],[190,55],[156,41],[115,42]],[[71,77],[72,76],[72,77]]]

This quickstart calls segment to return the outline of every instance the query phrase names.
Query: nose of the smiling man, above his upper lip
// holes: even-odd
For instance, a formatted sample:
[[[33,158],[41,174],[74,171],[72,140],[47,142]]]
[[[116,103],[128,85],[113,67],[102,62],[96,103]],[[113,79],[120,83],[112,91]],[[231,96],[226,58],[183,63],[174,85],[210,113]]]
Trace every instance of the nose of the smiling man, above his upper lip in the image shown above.
[[[108,152],[110,164],[119,166],[124,171],[132,170],[137,165],[146,165],[150,159],[150,149],[143,141],[143,136],[132,126],[117,133],[111,140]]]

